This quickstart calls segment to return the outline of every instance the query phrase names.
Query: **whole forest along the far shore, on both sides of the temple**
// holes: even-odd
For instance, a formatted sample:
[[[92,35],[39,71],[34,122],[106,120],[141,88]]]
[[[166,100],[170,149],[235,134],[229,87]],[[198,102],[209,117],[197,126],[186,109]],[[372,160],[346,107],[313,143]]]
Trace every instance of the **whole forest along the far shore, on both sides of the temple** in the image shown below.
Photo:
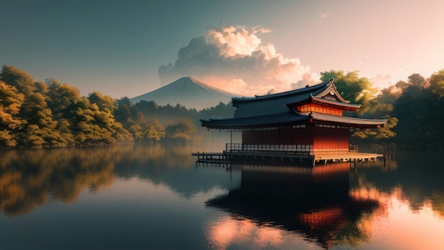
[[[408,80],[381,89],[359,72],[321,72],[321,81],[335,86],[350,103],[362,104],[347,114],[386,118],[382,129],[355,129],[353,143],[407,148],[442,148],[444,143],[444,70],[428,78]],[[132,103],[100,92],[82,97],[79,89],[55,78],[35,81],[28,72],[4,65],[0,73],[0,148],[97,146],[116,143],[173,141],[187,143],[204,136],[199,119],[231,117],[234,107],[220,103],[202,110]]]

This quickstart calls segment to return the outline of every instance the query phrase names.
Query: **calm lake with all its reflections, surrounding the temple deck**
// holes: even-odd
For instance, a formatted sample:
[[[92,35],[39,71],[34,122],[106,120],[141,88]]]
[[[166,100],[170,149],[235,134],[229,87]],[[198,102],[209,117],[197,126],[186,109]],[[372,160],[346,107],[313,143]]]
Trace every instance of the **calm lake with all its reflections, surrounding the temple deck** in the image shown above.
[[[0,249],[443,249],[443,151],[313,169],[191,156],[221,146],[1,151]]]

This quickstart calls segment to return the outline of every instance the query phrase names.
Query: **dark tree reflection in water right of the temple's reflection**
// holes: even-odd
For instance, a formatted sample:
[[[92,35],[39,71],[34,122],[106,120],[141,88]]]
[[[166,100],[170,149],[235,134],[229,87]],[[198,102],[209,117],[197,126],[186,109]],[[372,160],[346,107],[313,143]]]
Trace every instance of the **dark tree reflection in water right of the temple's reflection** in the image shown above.
[[[373,190],[379,196],[399,197],[414,213],[431,205],[433,212],[443,218],[442,155],[442,151],[397,150],[389,155],[386,166],[383,161],[360,164],[358,173],[350,175],[350,190]]]

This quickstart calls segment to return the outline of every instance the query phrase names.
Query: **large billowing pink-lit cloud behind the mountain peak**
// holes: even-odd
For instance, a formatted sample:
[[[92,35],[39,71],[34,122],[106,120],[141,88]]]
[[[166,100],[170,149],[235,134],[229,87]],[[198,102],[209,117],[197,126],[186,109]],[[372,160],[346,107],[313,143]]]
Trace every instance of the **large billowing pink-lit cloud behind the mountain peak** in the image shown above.
[[[204,33],[181,48],[174,64],[159,67],[162,84],[179,77],[199,80],[244,95],[287,91],[292,82],[304,80],[310,67],[299,58],[286,58],[260,35],[270,33],[262,26],[209,26]],[[306,76],[305,76],[306,77]]]

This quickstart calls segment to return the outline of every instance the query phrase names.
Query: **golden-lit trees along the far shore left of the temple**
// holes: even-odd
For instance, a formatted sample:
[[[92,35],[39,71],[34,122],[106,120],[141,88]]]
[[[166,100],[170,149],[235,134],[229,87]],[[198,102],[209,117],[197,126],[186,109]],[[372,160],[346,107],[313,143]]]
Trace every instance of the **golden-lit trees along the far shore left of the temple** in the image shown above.
[[[221,103],[197,112],[179,104],[133,104],[128,97],[116,100],[100,92],[82,97],[79,89],[55,78],[36,82],[9,65],[0,73],[1,148],[186,142],[196,137],[193,121],[214,112],[232,115],[233,108]]]

